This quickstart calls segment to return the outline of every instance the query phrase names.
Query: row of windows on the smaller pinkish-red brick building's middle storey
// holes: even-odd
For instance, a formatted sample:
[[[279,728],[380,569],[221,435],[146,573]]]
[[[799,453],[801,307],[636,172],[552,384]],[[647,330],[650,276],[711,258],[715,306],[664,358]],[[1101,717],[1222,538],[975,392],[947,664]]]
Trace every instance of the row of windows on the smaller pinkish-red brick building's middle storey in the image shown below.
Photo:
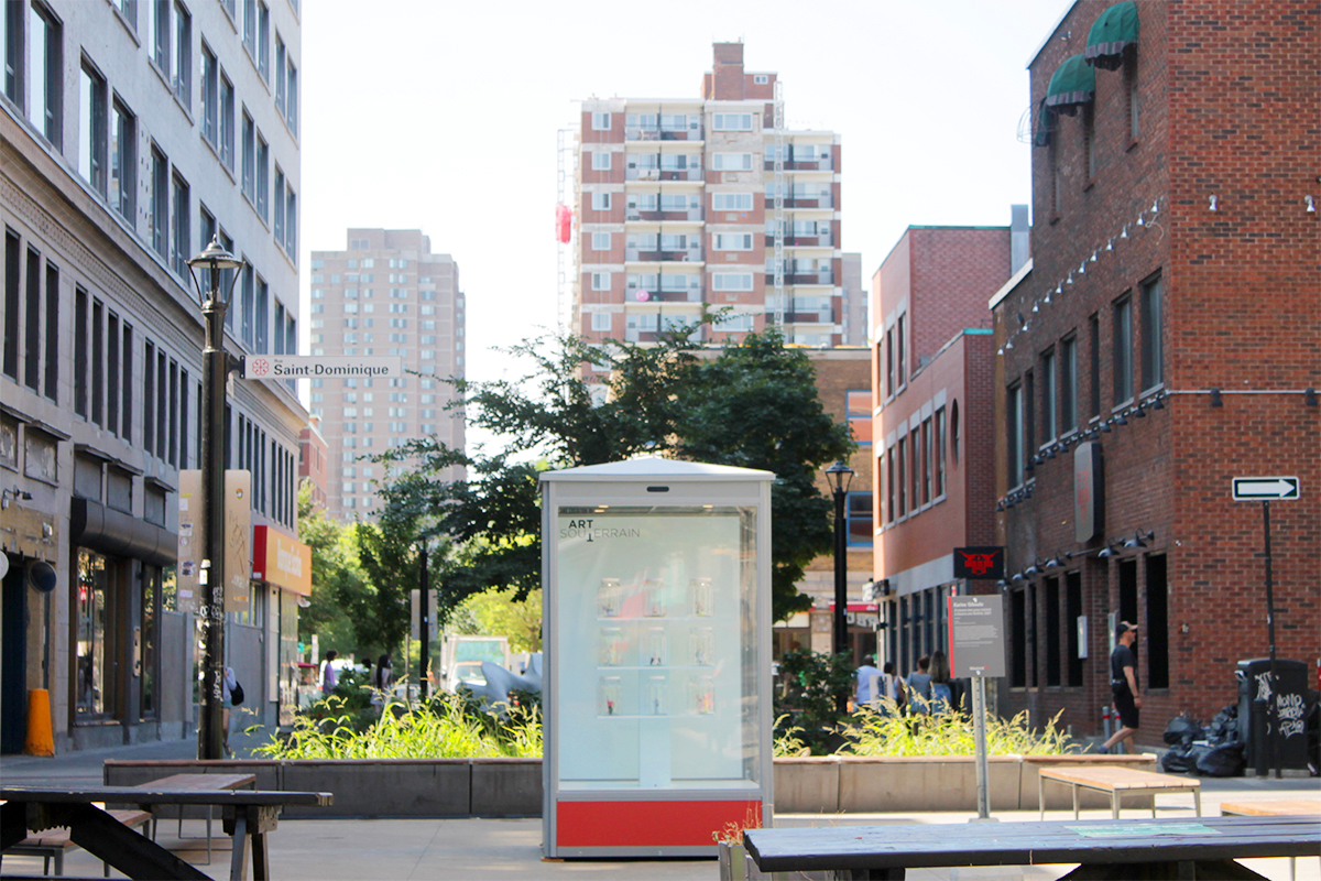
[[[937,407],[880,454],[882,523],[897,523],[945,498],[947,456],[955,465],[959,461],[958,404],[951,409],[946,419],[946,408]]]

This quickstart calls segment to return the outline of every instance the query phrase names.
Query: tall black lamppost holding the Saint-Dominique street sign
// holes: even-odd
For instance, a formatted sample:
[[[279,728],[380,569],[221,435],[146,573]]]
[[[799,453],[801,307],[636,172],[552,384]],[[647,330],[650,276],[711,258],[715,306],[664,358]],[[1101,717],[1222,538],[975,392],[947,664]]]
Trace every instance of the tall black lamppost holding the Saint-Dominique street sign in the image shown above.
[[[225,382],[238,361],[225,351],[225,309],[229,297],[221,299],[221,273],[239,269],[243,262],[221,247],[219,236],[206,250],[188,262],[193,284],[202,297],[206,325],[202,349],[202,510],[206,535],[202,543],[202,707],[197,726],[197,757],[225,758],[222,704],[225,682],[225,465],[229,461],[225,431]],[[207,288],[197,281],[194,269],[207,271]],[[238,281],[239,273],[234,273]],[[225,295],[234,293],[234,281]]]

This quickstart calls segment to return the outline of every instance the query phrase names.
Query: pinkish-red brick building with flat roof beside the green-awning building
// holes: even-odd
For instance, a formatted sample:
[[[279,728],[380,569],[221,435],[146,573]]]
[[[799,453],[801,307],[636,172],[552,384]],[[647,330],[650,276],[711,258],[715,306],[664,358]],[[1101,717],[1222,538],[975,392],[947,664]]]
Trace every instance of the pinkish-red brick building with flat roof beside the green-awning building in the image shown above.
[[[1026,260],[1028,209],[1012,214],[1009,227],[909,227],[872,277],[873,573],[881,656],[901,672],[946,647],[946,597],[970,586],[954,548],[993,539],[985,297]]]

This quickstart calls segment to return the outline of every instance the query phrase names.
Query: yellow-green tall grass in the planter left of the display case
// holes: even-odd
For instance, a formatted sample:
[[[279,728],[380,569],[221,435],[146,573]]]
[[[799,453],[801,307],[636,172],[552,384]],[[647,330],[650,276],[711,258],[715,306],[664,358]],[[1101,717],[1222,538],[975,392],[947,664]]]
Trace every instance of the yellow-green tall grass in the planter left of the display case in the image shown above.
[[[542,715],[536,707],[514,707],[507,720],[480,719],[458,695],[441,695],[411,709],[387,704],[367,730],[354,729],[351,712],[320,721],[300,716],[285,740],[272,737],[252,752],[264,758],[540,757]]]

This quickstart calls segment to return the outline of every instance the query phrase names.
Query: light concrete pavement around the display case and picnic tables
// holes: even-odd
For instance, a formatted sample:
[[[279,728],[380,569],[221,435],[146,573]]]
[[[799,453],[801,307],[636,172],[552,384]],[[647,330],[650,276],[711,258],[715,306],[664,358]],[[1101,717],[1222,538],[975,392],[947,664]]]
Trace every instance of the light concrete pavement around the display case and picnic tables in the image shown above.
[[[235,734],[231,746],[235,753],[248,754],[251,748],[264,741],[260,734]],[[7,785],[21,783],[100,783],[100,765],[107,758],[193,758],[197,748],[192,741],[139,744],[95,753],[73,753],[55,758],[29,756],[0,757],[0,779]],[[1255,777],[1230,779],[1202,779],[1202,810],[1218,815],[1219,804],[1230,800],[1321,798],[1321,785],[1316,778],[1288,778],[1275,781]],[[1148,811],[1125,808],[1125,818],[1147,816]],[[1192,818],[1189,795],[1159,795],[1160,816]],[[871,826],[905,823],[947,823],[951,835],[966,828],[975,810],[939,814],[836,814],[836,815],[781,815],[777,826]],[[1033,822],[1036,811],[995,811],[1000,822]],[[1071,811],[1048,811],[1046,819],[1071,819]],[[1085,819],[1108,819],[1110,811],[1083,811]],[[185,836],[201,836],[201,820],[184,823]],[[1321,833],[1321,829],[1318,829]],[[205,843],[196,837],[178,839],[176,824],[161,823],[159,840],[194,864],[206,860]],[[411,881],[413,878],[441,878],[481,881],[486,878],[638,878],[639,881],[667,881],[671,878],[717,877],[711,860],[655,860],[655,861],[544,861],[542,860],[542,822],[539,819],[490,820],[284,820],[269,835],[271,874],[284,881]],[[217,840],[214,863],[203,872],[223,877],[229,872],[227,839]],[[1246,860],[1246,865],[1272,881],[1289,878],[1289,861]],[[1070,865],[1055,866],[988,866],[978,869],[918,869],[910,870],[914,881],[946,881],[970,878],[1030,878],[1052,881],[1071,870]],[[40,874],[41,861],[34,857],[5,857],[4,873]],[[95,877],[100,874],[100,861],[83,852],[71,853],[65,861],[65,873]],[[112,873],[112,877],[119,877]],[[1300,859],[1299,881],[1321,881],[1321,861]]]

